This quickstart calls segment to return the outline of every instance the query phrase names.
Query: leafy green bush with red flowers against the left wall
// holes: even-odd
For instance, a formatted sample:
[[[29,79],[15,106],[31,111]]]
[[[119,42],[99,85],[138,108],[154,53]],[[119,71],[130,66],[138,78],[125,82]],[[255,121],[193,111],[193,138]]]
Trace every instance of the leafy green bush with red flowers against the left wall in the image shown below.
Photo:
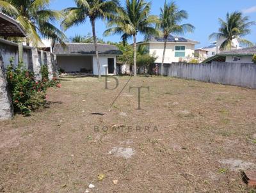
[[[12,93],[14,111],[29,116],[31,111],[47,104],[45,100],[47,88],[50,86],[60,87],[61,85],[56,77],[52,81],[46,79],[35,81],[34,74],[24,69],[23,66],[23,63],[19,63],[17,68],[14,68],[13,58],[11,58],[7,70],[7,81]]]

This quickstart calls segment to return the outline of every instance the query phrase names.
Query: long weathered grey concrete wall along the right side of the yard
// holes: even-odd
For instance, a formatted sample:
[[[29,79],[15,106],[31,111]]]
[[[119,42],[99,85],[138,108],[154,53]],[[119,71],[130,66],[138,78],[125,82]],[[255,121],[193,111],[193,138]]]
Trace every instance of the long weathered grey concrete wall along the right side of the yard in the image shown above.
[[[256,89],[256,65],[248,63],[186,64],[172,63],[167,67],[170,77],[194,79]]]

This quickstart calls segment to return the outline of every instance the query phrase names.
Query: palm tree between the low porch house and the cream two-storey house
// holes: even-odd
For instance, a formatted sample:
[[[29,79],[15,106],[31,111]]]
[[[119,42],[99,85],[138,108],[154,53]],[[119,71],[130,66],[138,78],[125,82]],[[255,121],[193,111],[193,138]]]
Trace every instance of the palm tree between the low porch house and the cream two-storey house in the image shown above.
[[[133,37],[134,76],[137,75],[136,66],[136,35],[158,35],[156,28],[158,19],[150,15],[151,3],[144,0],[126,0],[125,8],[119,9],[117,17],[108,23],[109,29],[104,35],[122,35],[123,42]]]

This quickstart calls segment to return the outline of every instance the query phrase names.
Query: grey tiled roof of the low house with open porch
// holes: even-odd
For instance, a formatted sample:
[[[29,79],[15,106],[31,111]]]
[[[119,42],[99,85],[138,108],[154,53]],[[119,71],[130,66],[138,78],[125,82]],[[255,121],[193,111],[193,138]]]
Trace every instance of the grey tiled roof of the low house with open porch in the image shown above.
[[[53,52],[56,55],[95,55],[93,43],[66,43],[66,47],[57,43]],[[97,44],[100,55],[119,55],[122,54],[115,45]]]

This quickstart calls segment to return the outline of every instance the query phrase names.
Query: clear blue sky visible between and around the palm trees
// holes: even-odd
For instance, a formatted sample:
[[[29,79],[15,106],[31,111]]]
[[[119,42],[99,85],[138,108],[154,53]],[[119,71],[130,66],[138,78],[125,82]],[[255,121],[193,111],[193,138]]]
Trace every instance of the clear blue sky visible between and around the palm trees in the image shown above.
[[[120,1],[123,5],[125,0]],[[152,15],[159,15],[160,7],[163,6],[164,0],[152,0]],[[194,33],[187,33],[184,35],[186,38],[196,40],[200,44],[197,47],[204,47],[209,45],[209,35],[212,32],[218,31],[218,18],[225,19],[227,12],[243,11],[244,15],[248,15],[250,20],[256,21],[256,1],[255,0],[177,0],[175,1],[180,9],[186,10],[189,13],[188,20],[184,20],[182,23],[190,23],[196,27]],[[52,0],[51,8],[54,10],[62,10],[70,6],[75,6],[74,0]],[[97,20],[96,31],[97,36],[103,38],[105,41],[120,42],[120,36],[108,36],[103,37],[102,33],[106,29],[106,22]],[[87,35],[92,33],[92,27],[90,22],[72,27],[66,32],[67,37],[79,35]],[[256,43],[256,26],[252,27],[252,34],[246,36],[248,40]],[[143,36],[138,35],[138,41],[143,40]],[[131,40],[129,42],[132,42]]]

